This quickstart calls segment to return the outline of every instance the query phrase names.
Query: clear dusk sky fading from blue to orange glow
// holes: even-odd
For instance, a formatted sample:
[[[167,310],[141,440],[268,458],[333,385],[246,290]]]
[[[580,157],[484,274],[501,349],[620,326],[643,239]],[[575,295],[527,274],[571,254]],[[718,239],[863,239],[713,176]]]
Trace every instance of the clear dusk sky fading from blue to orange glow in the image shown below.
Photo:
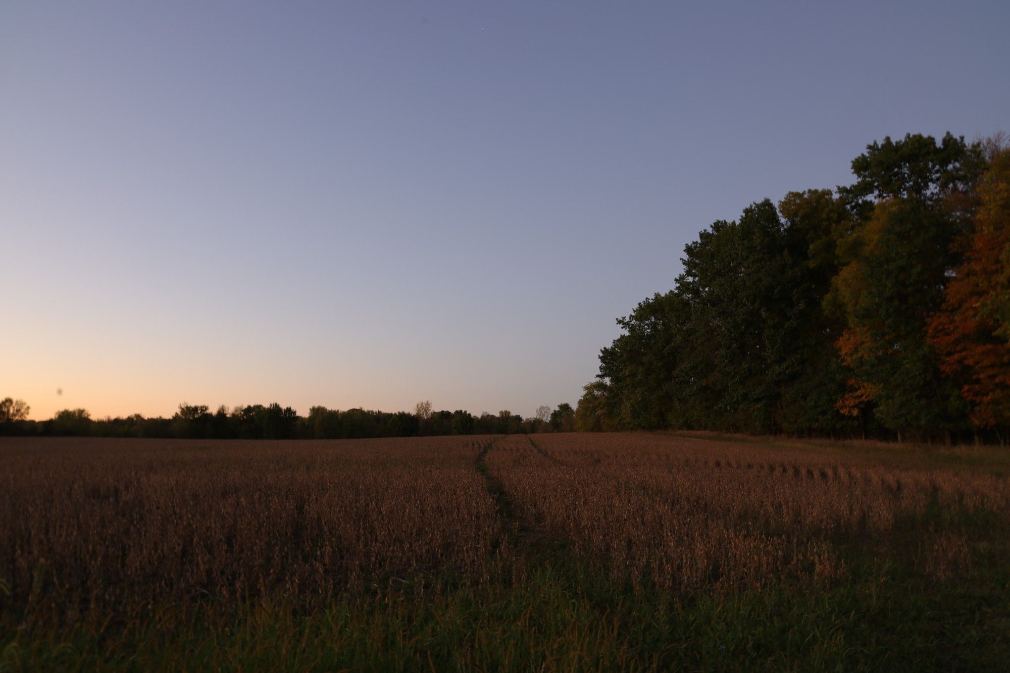
[[[1010,3],[5,2],[0,397],[532,415],[753,201],[1010,130]]]

